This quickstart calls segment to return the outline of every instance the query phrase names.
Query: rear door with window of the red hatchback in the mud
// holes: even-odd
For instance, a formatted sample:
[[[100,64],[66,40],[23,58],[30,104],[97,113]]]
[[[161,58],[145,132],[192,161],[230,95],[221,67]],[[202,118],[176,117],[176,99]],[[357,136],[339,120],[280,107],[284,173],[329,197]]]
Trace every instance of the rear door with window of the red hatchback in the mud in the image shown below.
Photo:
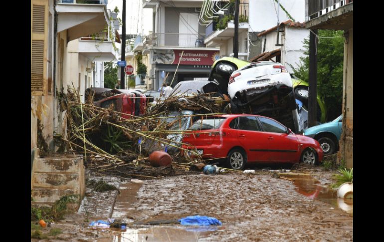
[[[268,161],[268,135],[262,132],[256,117],[240,116],[237,123],[232,122],[229,127],[235,125],[237,139],[246,150],[248,161]]]

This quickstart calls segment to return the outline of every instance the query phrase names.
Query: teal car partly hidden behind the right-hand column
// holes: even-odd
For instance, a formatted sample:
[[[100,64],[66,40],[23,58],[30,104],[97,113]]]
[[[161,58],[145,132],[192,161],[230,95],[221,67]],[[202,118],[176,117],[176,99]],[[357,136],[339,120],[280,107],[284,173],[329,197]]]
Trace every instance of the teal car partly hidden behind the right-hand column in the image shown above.
[[[303,135],[317,140],[324,155],[331,155],[339,149],[339,140],[343,128],[343,115],[335,120],[305,129]]]

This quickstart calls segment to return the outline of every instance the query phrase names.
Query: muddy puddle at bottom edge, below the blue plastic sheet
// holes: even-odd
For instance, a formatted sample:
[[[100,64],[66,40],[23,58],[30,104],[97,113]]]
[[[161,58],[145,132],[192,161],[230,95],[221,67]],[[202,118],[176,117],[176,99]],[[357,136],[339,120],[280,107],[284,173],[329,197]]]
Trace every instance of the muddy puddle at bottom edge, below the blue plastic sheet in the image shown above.
[[[211,230],[217,227],[210,226]],[[193,231],[193,229],[197,231]],[[198,229],[202,230],[199,231]],[[210,231],[207,228],[179,229],[174,227],[150,227],[140,229],[127,229],[127,231],[114,235],[113,242],[197,242],[206,237]]]

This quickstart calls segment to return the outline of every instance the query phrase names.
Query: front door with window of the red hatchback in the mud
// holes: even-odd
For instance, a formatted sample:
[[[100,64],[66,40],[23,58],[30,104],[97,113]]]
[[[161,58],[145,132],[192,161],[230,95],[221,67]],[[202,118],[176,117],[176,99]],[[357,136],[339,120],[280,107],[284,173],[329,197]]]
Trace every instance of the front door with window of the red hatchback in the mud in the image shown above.
[[[299,140],[293,133],[287,134],[287,128],[273,119],[258,117],[264,134],[268,136],[269,161],[292,162],[298,160]]]

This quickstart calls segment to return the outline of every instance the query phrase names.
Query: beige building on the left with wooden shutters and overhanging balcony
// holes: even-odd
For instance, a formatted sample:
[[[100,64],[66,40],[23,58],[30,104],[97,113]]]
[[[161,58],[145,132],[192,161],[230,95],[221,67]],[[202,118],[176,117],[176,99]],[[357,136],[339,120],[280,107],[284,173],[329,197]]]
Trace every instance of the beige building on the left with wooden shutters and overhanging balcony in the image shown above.
[[[113,38],[97,39],[104,29]],[[62,122],[56,91],[73,85],[83,93],[90,87],[92,63],[114,58],[114,33],[105,4],[31,0],[31,164],[38,155],[37,120],[53,149],[53,133],[61,133]],[[95,38],[86,39],[90,35]]]

